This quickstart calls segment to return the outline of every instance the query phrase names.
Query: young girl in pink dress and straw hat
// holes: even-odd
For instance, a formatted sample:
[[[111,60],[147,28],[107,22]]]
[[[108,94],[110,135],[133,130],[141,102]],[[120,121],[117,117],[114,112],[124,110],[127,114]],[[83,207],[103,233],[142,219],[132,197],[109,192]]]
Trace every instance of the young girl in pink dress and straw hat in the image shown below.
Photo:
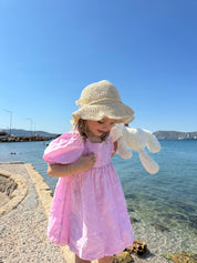
[[[133,244],[126,202],[111,156],[114,123],[129,122],[134,111],[117,89],[103,80],[87,85],[75,111],[73,132],[50,143],[44,152],[48,173],[60,178],[49,218],[51,242],[69,245],[75,263],[112,262]]]

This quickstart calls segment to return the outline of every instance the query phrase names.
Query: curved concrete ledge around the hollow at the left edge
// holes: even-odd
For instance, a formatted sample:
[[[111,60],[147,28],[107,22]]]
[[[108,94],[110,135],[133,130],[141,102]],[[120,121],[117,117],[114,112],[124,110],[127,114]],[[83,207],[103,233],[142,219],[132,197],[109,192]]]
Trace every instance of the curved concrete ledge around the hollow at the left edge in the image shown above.
[[[9,213],[11,210],[17,209],[17,206],[22,202],[22,200],[28,194],[28,182],[20,174],[10,173],[0,169],[0,174],[3,174],[10,179],[12,179],[17,184],[17,189],[10,195],[9,202],[0,208],[0,216]]]

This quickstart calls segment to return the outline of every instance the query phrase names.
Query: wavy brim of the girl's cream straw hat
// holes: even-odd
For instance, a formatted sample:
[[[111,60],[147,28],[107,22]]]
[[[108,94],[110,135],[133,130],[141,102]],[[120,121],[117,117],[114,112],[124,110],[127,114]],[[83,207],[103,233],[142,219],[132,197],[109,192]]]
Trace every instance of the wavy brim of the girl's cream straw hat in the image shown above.
[[[74,123],[79,119],[98,121],[103,118],[114,119],[116,123],[128,123],[134,120],[134,111],[122,102],[100,102],[100,104],[83,105],[72,113]]]

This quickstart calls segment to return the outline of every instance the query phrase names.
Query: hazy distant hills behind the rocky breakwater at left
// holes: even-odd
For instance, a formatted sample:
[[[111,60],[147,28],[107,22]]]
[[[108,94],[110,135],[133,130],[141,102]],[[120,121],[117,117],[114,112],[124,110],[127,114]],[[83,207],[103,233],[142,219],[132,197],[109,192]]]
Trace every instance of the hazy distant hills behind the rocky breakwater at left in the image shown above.
[[[3,132],[10,133],[10,130],[2,129]],[[50,136],[55,138],[56,133],[49,133],[44,131],[27,131],[22,129],[12,129],[11,133],[15,136],[31,136],[31,135],[40,135],[40,136]]]

